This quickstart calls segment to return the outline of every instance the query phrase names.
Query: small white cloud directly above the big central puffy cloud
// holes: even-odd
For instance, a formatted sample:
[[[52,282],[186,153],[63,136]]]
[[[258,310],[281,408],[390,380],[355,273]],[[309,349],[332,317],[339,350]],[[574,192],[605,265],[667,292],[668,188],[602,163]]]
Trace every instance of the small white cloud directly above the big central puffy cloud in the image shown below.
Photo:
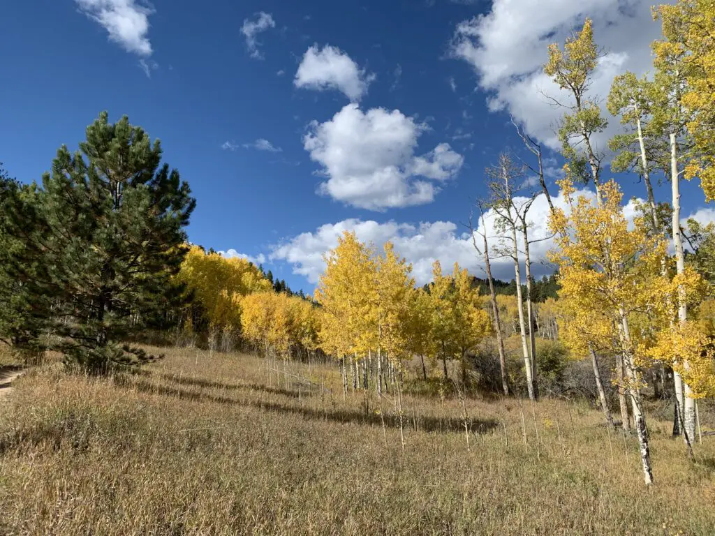
[[[299,88],[325,91],[337,89],[351,101],[359,101],[368,93],[375,74],[360,69],[350,56],[335,46],[326,45],[320,50],[311,46],[295,73],[293,84]]]

